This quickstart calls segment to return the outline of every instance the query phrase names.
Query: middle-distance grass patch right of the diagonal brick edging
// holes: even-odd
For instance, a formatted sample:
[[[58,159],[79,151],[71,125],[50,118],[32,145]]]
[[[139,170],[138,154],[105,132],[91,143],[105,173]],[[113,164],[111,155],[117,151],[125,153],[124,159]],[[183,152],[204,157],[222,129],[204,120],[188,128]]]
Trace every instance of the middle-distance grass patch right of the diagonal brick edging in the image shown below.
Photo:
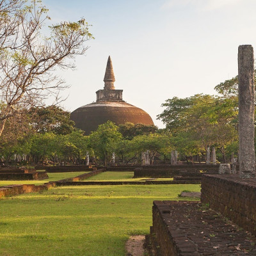
[[[97,180],[97,181],[144,181],[147,178],[134,178],[132,179],[133,172],[102,172],[95,176],[89,177],[86,180]],[[150,179],[150,178],[148,178]],[[156,179],[156,180],[173,180],[173,178]]]

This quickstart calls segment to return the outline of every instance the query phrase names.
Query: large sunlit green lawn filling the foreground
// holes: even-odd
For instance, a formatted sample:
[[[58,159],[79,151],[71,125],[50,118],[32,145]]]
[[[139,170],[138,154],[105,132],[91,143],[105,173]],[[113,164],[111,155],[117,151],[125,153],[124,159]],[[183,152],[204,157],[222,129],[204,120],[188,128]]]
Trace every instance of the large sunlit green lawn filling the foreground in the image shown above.
[[[153,200],[179,200],[185,189],[200,185],[66,186],[4,198],[0,255],[124,256],[131,234],[149,233]]]

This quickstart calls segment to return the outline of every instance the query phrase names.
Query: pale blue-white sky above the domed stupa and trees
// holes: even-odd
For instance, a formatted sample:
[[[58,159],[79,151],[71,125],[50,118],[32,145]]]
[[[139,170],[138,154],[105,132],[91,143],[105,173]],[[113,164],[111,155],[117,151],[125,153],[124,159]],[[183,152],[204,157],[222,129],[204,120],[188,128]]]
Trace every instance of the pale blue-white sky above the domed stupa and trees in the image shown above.
[[[70,84],[68,111],[96,100],[111,56],[123,99],[156,120],[172,97],[216,94],[214,86],[237,75],[237,48],[256,43],[255,0],[43,0],[52,22],[84,17],[95,40]]]

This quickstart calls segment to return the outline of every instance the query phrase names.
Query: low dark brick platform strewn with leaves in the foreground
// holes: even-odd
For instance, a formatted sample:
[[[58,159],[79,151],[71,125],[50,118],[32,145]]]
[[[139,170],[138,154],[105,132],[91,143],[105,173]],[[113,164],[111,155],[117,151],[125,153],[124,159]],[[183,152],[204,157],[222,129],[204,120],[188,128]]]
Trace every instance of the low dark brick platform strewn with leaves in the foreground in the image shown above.
[[[256,255],[256,238],[198,202],[154,201],[152,255]]]

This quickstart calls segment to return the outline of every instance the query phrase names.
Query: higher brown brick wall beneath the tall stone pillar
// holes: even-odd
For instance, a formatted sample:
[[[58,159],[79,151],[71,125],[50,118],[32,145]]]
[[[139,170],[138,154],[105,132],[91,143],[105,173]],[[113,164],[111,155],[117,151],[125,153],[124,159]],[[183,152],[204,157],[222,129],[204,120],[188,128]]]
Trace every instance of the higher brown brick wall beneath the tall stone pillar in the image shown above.
[[[256,179],[203,175],[201,201],[256,235]]]

